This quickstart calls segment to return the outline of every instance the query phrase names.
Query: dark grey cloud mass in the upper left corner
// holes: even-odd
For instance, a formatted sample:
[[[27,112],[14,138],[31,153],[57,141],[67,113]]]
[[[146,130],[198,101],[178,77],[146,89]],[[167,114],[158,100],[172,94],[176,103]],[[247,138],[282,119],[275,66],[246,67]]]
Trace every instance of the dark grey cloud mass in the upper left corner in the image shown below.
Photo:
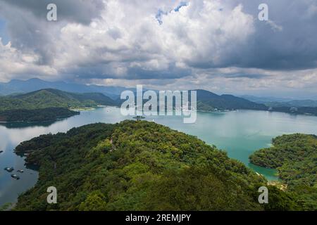
[[[46,6],[57,6],[58,21],[48,22]],[[51,65],[56,52],[60,26],[68,22],[88,24],[104,8],[101,0],[0,0],[0,15],[7,21],[11,44],[18,49],[34,51],[39,65]]]

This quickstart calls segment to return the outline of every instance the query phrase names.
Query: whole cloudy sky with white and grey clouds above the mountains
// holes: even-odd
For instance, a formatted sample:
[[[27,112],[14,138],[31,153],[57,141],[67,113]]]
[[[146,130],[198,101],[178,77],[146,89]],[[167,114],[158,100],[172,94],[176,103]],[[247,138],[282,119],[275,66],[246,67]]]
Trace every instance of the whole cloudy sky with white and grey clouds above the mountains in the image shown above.
[[[0,37],[0,82],[317,98],[317,0],[0,0]]]

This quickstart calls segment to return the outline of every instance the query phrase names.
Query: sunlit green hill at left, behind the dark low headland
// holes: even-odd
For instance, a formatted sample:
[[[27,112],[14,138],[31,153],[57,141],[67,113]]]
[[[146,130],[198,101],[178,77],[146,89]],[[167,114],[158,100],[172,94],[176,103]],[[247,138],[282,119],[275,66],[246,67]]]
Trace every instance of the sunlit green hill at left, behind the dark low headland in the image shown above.
[[[39,108],[80,108],[116,105],[104,94],[74,94],[56,89],[42,89],[28,94],[0,97],[0,110],[33,110]]]

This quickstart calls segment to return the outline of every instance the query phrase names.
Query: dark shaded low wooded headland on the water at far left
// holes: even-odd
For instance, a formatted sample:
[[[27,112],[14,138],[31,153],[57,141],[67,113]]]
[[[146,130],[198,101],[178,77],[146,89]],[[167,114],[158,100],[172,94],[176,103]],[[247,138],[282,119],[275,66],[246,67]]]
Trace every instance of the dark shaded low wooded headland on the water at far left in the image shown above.
[[[67,108],[40,108],[37,110],[7,110],[0,112],[1,122],[43,122],[55,121],[78,115]]]

